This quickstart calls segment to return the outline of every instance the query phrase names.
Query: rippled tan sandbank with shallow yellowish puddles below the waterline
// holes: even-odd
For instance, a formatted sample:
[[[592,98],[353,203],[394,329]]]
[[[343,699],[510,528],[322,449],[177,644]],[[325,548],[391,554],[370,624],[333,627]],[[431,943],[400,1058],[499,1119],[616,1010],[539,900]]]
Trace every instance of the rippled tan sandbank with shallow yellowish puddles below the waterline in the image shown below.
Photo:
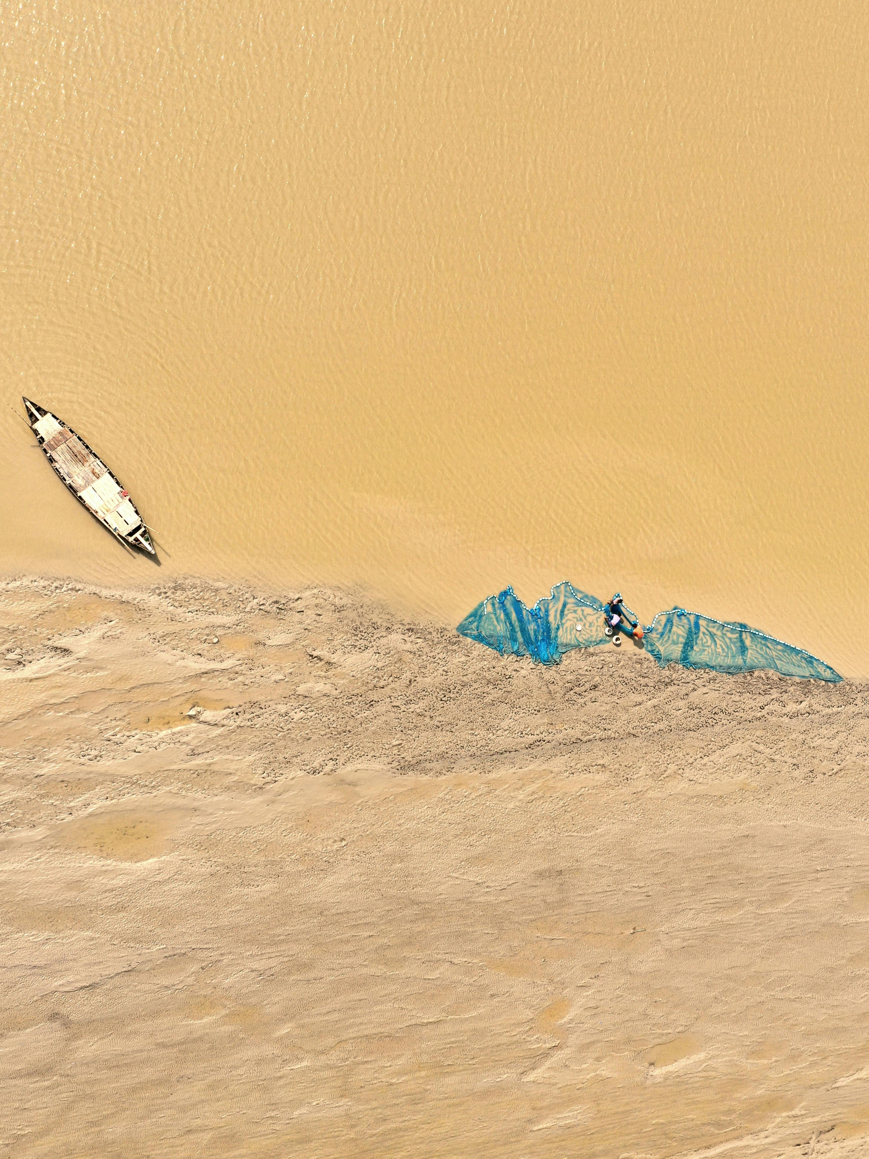
[[[869,690],[0,585],[0,1156],[869,1153]]]

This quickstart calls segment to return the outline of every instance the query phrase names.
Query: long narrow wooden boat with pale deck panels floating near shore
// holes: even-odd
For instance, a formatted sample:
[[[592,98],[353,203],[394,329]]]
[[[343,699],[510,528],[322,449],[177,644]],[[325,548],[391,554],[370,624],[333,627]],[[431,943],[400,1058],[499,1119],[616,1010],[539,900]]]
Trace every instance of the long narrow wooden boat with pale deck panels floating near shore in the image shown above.
[[[75,498],[122,544],[156,555],[136,504],[102,459],[57,415],[22,401],[45,458]]]

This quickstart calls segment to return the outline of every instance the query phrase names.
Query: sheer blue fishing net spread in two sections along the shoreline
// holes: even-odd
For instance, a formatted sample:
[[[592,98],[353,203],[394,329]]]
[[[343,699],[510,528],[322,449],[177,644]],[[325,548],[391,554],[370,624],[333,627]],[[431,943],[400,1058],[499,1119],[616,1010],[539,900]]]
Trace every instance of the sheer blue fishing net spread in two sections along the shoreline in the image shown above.
[[[502,655],[531,656],[541,664],[557,664],[571,648],[607,643],[605,605],[571,584],[560,583],[548,599],[526,607],[512,588],[490,596],[469,612],[458,632]],[[628,626],[629,627],[629,626]],[[841,680],[828,664],[768,636],[747,624],[726,624],[698,612],[674,607],[658,612],[644,629],[642,644],[660,668],[709,668],[716,672],[769,669],[782,676]]]

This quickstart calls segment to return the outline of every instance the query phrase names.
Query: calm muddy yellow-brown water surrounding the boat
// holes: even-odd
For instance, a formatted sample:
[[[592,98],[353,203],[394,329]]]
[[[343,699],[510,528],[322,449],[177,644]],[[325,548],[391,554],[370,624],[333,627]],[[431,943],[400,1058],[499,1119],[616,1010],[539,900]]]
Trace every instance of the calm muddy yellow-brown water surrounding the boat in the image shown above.
[[[619,586],[869,675],[869,14],[6,5],[0,569]]]

